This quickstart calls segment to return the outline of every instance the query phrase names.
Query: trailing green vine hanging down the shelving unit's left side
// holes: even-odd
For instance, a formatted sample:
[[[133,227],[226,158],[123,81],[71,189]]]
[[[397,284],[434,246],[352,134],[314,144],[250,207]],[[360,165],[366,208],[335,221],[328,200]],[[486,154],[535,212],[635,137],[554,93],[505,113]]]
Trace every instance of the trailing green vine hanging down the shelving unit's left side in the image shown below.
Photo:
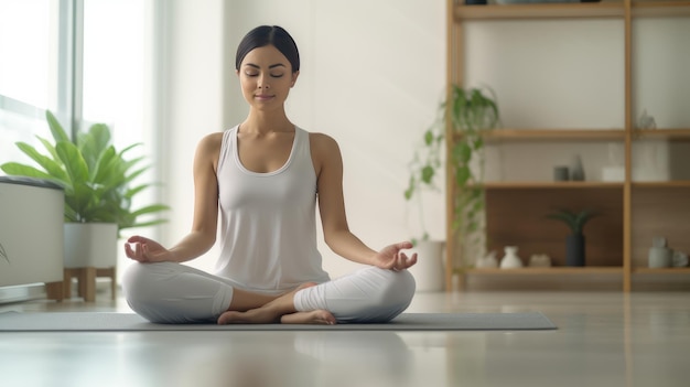
[[[410,178],[405,198],[411,201],[417,196],[421,208],[419,193],[422,190],[440,191],[435,178],[444,170],[444,140],[450,133],[448,155],[454,182],[452,226],[470,235],[481,227],[484,211],[484,136],[498,126],[499,112],[496,96],[489,88],[465,89],[452,85],[450,92],[450,99],[440,104],[436,119],[424,131],[423,142],[408,165]],[[424,227],[423,222],[421,224]],[[422,239],[428,237],[424,227]]]

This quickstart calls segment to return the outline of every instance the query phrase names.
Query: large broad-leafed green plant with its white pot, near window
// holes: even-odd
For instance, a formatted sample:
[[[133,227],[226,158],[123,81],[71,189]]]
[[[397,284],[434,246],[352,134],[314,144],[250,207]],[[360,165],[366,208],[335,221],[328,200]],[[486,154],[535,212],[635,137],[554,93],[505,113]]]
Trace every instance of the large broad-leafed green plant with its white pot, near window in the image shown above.
[[[25,142],[17,143],[39,168],[8,162],[0,169],[10,175],[46,180],[63,187],[65,267],[112,267],[117,259],[115,246],[119,232],[164,222],[142,222],[140,217],[165,211],[168,206],[151,204],[132,208],[132,198],[151,186],[131,186],[133,180],[148,170],[148,166],[136,169],[143,158],[126,157],[139,143],[116,151],[110,130],[104,123],[78,132],[76,140],[72,141],[51,111],[45,116],[53,137],[53,142],[39,137],[45,153]],[[93,247],[85,246],[88,243]],[[104,246],[112,246],[112,251]],[[71,251],[71,248],[79,251]]]

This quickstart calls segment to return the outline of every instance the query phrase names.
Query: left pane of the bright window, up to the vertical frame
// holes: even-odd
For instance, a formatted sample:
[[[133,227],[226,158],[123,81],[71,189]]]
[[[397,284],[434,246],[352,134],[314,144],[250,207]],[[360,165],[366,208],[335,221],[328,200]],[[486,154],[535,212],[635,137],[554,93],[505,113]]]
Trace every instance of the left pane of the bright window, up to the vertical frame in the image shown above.
[[[68,1],[0,1],[0,162],[24,160],[14,142],[50,137],[45,109],[68,121]]]

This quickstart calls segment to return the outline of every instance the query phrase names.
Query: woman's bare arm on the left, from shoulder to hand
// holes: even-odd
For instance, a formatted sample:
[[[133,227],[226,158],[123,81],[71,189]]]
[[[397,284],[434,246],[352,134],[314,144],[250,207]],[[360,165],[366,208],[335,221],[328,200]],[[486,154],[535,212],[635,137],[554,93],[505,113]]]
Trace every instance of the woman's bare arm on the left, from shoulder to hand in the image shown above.
[[[127,256],[141,262],[192,260],[216,241],[218,181],[216,170],[223,133],[202,139],[194,155],[194,219],[192,230],[174,247],[166,249],[154,240],[133,236],[125,246]]]

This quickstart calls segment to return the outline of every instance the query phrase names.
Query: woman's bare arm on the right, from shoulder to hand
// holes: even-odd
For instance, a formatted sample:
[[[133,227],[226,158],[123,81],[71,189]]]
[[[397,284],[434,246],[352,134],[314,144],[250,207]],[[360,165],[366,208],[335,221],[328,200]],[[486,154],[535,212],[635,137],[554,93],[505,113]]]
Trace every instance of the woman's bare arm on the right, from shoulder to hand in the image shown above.
[[[312,160],[316,170],[319,209],[326,245],[337,255],[352,261],[385,269],[407,269],[414,265],[417,255],[407,257],[401,250],[412,247],[402,241],[375,251],[357,238],[347,225],[343,196],[343,159],[334,139],[322,133],[310,135]]]

